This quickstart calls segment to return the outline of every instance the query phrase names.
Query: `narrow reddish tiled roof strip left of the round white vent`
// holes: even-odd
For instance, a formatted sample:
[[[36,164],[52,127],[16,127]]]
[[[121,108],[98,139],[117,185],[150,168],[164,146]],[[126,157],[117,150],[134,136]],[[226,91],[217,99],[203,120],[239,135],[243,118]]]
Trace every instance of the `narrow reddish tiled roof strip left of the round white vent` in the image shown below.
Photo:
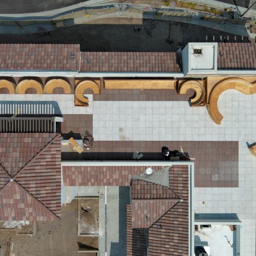
[[[144,172],[147,166],[62,166],[65,186],[130,186],[130,175]],[[163,166],[154,166],[162,169]]]

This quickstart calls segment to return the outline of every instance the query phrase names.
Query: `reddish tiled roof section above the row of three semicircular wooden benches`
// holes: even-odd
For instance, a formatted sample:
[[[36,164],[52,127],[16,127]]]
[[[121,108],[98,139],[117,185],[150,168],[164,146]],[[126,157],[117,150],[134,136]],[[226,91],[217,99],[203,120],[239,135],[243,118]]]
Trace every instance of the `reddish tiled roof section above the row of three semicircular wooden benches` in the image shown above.
[[[79,55],[79,45],[0,44],[0,70],[78,71]]]

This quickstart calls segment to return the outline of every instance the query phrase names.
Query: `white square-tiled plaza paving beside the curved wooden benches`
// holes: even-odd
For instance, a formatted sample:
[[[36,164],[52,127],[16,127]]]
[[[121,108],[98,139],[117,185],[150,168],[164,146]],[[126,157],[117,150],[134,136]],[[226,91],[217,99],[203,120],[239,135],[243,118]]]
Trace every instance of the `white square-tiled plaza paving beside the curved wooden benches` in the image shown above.
[[[194,188],[195,213],[237,213],[238,218],[242,221],[241,255],[255,255],[256,159],[250,154],[246,144],[246,142],[251,144],[256,140],[255,94],[243,95],[234,90],[224,92],[218,102],[219,110],[224,116],[221,125],[215,124],[210,119],[205,107],[191,108],[186,100],[150,101],[142,98],[141,100],[127,101],[96,101],[93,95],[87,96],[90,100],[88,108],[74,106],[74,95],[3,94],[0,95],[0,101],[57,101],[58,111],[62,115],[71,117],[74,115],[75,117],[79,114],[81,121],[90,116],[91,132],[96,145],[97,142],[102,144],[104,141],[113,141],[113,143],[123,141],[134,143],[136,141],[139,146],[140,142],[158,143],[163,141],[163,143],[168,142],[167,146],[171,148],[172,141],[183,141],[181,146],[185,148],[186,141],[221,141],[222,144],[238,142],[238,162],[230,163],[238,164],[238,173],[236,174],[238,182],[224,187],[226,185],[220,183],[224,178],[220,171],[218,174],[214,173],[214,166],[208,168],[210,169],[210,183],[197,182],[197,176],[195,176],[195,184],[197,184]],[[178,146],[177,143],[174,144]],[[198,156],[197,147],[200,144],[195,145],[195,148],[190,148],[188,152],[191,158]],[[113,147],[113,145],[108,145],[109,148],[111,146]],[[104,145],[104,147],[107,146]],[[227,161],[232,153],[228,151],[228,148],[222,151],[221,145],[218,147],[221,155]],[[232,145],[232,147],[236,146]],[[106,151],[106,148],[104,150]],[[112,152],[114,150],[112,148]],[[133,148],[131,148],[132,150]],[[208,151],[205,153],[206,158],[207,155],[210,158],[214,152],[207,147],[206,150]],[[232,181],[232,172],[235,172],[236,168],[230,169],[225,161],[222,166],[218,167],[223,171],[229,170]],[[216,183],[212,183],[214,181],[219,181],[219,185],[215,186]],[[204,184],[207,184],[207,187]]]

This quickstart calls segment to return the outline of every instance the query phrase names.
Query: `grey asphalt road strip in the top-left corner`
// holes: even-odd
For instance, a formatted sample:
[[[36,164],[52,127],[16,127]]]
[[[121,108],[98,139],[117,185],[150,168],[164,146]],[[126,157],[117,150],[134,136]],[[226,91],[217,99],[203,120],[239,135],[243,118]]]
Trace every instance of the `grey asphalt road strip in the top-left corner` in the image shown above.
[[[75,5],[84,0],[2,0],[0,1],[1,14],[31,13],[54,10]]]

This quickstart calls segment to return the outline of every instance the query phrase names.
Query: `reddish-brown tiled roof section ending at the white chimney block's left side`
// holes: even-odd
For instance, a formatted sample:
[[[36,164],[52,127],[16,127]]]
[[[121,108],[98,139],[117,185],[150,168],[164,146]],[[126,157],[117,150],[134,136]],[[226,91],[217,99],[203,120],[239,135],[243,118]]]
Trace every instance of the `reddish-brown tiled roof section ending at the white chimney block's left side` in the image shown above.
[[[80,71],[182,72],[178,60],[175,52],[81,52]]]

